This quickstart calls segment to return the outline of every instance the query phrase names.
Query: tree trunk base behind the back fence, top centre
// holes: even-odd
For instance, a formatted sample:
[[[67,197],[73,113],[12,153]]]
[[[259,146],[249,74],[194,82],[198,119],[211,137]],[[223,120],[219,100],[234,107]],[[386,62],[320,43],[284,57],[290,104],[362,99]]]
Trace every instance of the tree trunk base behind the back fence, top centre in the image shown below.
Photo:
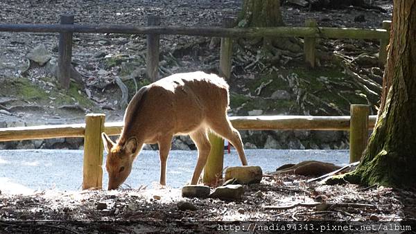
[[[244,0],[239,15],[239,26],[276,27],[284,26],[279,0]]]

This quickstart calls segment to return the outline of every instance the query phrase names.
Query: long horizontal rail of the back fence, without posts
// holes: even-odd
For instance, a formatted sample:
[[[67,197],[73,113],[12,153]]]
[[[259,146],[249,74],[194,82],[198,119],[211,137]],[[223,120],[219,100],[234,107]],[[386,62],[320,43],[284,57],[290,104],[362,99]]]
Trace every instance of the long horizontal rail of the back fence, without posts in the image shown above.
[[[3,32],[25,33],[123,33],[143,35],[193,35],[205,37],[324,37],[351,39],[388,39],[388,30],[327,27],[272,27],[272,28],[219,28],[219,27],[165,27],[79,24],[0,24]]]

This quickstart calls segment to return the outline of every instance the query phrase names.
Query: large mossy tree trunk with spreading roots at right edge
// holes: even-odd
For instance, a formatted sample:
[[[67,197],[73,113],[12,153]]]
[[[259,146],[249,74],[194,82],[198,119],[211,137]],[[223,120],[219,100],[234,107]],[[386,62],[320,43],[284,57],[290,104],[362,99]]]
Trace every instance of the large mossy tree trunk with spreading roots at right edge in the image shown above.
[[[416,186],[416,0],[394,1],[390,38],[379,118],[347,180],[410,187]]]

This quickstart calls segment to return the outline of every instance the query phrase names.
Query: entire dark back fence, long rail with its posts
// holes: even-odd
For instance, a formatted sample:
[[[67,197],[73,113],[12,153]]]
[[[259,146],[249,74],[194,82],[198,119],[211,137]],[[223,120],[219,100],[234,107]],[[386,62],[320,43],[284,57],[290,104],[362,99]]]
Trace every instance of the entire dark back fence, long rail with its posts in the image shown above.
[[[381,29],[319,27],[315,19],[306,19],[304,27],[231,28],[234,20],[223,19],[223,27],[173,27],[159,26],[157,16],[148,17],[148,26],[78,25],[73,15],[61,15],[60,24],[0,24],[0,32],[60,33],[58,55],[58,80],[60,86],[69,88],[71,77],[72,33],[123,33],[147,35],[146,70],[152,82],[158,79],[159,35],[193,35],[221,37],[220,73],[228,79],[231,73],[232,38],[236,37],[304,37],[304,55],[307,64],[315,66],[316,38],[380,39],[379,62],[387,58],[386,48],[390,38],[391,21],[383,21]]]

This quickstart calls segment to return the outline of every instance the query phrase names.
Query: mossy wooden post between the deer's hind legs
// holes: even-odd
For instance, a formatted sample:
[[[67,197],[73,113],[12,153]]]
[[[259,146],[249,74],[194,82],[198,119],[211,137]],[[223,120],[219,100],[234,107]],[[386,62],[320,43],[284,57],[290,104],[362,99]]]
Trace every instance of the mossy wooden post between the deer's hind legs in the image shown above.
[[[208,137],[211,151],[205,164],[203,181],[212,184],[217,178],[223,178],[224,139],[213,133],[209,133]]]

